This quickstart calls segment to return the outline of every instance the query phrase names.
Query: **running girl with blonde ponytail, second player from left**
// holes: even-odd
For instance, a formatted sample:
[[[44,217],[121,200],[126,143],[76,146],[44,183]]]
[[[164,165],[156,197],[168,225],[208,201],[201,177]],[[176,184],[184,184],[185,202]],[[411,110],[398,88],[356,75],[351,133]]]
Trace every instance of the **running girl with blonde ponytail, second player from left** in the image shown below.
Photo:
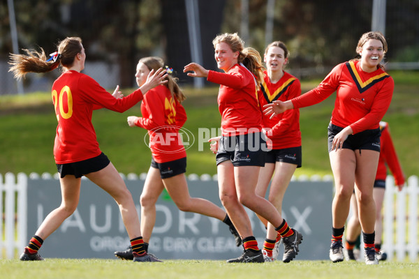
[[[163,68],[163,59],[160,57],[140,59],[135,72],[138,86],[145,84],[149,73],[159,68]],[[171,69],[169,70],[171,73]],[[148,130],[149,148],[152,151],[152,163],[140,197],[141,232],[145,250],[148,252],[149,240],[156,223],[156,202],[163,189],[167,190],[179,210],[210,216],[228,225],[230,232],[235,236],[236,245],[240,246],[242,241],[226,211],[207,199],[189,195],[185,176],[186,151],[179,134],[186,122],[186,112],[181,104],[186,97],[177,84],[177,78],[168,75],[166,80],[166,84],[156,86],[144,96],[141,103],[142,117],[128,116],[127,119],[128,126]],[[132,247],[115,252],[115,256],[133,259]]]

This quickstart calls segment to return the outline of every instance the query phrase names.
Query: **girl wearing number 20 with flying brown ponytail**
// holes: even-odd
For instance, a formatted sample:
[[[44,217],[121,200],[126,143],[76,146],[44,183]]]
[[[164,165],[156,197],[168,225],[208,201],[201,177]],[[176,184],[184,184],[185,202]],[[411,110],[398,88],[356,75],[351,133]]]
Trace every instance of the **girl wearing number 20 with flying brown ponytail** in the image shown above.
[[[61,66],[63,73],[52,84],[52,102],[57,114],[57,134],[54,143],[54,158],[61,185],[61,205],[51,211],[20,256],[22,261],[43,260],[38,250],[43,241],[66,220],[80,199],[82,176],[109,193],[121,211],[126,232],[131,240],[131,257],[134,262],[156,262],[145,252],[140,221],[133,197],[125,182],[108,157],[99,149],[96,132],[91,123],[94,110],[105,107],[115,112],[125,112],[142,100],[143,95],[154,87],[165,84],[166,71],[162,68],[147,75],[147,82],[124,98],[115,89],[108,93],[102,86],[81,71],[84,69],[86,53],[82,39],[69,37],[61,40],[57,52],[47,59],[44,50],[25,50],[25,54],[10,54],[10,71],[15,77],[27,73],[47,73]],[[62,246],[68,246],[62,239]],[[71,243],[80,245],[80,243]],[[64,251],[65,252],[65,251]],[[65,255],[65,253],[63,254]]]

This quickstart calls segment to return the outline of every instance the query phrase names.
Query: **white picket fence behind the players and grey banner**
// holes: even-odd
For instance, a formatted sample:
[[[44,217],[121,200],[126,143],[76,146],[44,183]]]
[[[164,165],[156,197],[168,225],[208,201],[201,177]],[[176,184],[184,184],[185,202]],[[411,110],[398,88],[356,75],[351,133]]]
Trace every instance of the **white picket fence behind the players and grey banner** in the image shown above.
[[[122,174],[124,177],[124,175]],[[30,177],[38,179],[38,174]],[[124,177],[125,178],[125,177]],[[41,179],[52,179],[50,174],[43,174]],[[54,177],[57,179],[57,177]],[[145,174],[128,174],[128,180],[145,179]],[[189,180],[216,180],[215,176],[191,174]],[[332,176],[299,176],[297,181],[330,181]],[[0,174],[0,257],[15,258],[27,245],[27,185],[26,174]],[[394,179],[388,176],[384,201],[383,249],[388,253],[388,259],[404,261],[406,255],[411,262],[418,260],[418,176],[411,176],[407,186],[398,191]],[[3,204],[4,202],[4,204]]]

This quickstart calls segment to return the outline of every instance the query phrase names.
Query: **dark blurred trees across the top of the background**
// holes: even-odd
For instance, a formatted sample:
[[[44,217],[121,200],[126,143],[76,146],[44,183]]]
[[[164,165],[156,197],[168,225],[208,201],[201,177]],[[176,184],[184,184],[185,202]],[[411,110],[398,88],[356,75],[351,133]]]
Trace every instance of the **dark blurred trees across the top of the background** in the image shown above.
[[[242,0],[197,1],[203,63],[215,68],[212,38],[239,32]],[[267,0],[249,0],[247,46],[265,50]],[[388,61],[419,61],[419,1],[387,0],[385,36]],[[0,2],[0,58],[12,52],[8,1]],[[14,1],[19,47],[44,47],[80,36],[89,60],[119,63],[122,86],[133,84],[142,56],[163,56],[181,73],[191,61],[183,0],[27,0]],[[331,67],[355,56],[362,33],[371,29],[372,0],[274,1],[273,40],[291,51],[290,68]],[[180,68],[182,67],[182,68]]]

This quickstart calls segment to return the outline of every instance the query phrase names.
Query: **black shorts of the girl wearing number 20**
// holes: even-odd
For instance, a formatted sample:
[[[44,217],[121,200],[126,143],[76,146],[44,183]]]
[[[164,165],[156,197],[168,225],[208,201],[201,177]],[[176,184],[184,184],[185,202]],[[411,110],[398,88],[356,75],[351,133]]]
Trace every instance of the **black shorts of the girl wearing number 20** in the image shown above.
[[[74,175],[75,178],[78,179],[79,177],[91,172],[98,172],[99,170],[107,167],[109,163],[110,160],[108,159],[108,156],[102,152],[101,155],[87,160],[56,165],[61,179],[67,174]]]

